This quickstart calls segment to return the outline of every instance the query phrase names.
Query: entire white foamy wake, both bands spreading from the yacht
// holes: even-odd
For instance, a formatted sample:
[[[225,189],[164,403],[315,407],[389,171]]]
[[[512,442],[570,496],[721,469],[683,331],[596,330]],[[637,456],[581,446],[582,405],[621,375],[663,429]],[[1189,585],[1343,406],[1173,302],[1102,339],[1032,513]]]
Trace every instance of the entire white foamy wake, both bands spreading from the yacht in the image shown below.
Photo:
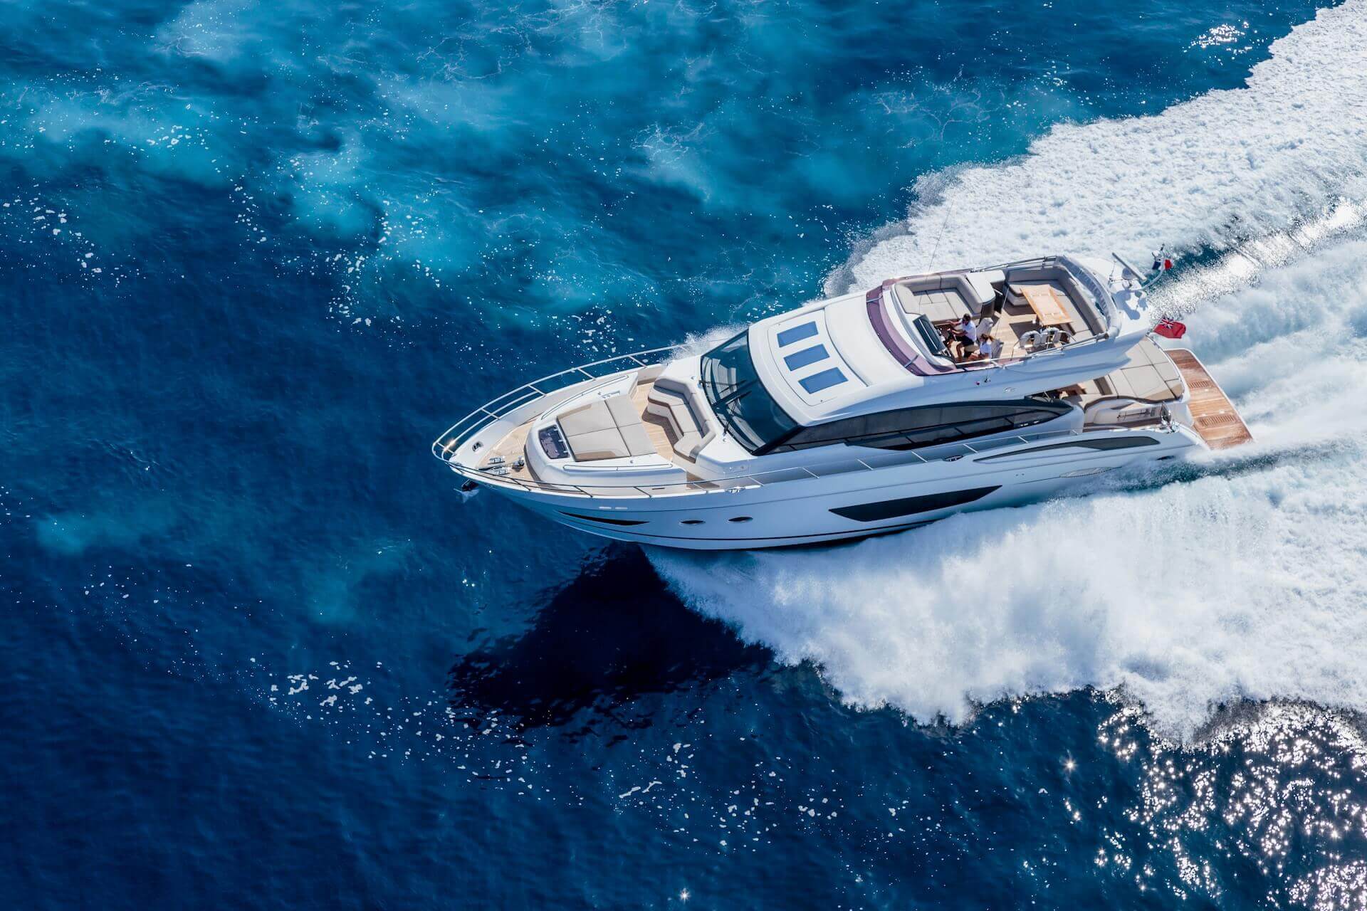
[[[1248,89],[1055,130],[1021,161],[949,178],[913,234],[854,266],[860,284],[923,266],[920,229],[947,212],[946,247],[977,262],[1151,236],[1230,244],[1356,193],[1363,11],[1297,27]],[[1115,176],[1140,184],[1133,197]],[[956,227],[992,199],[1014,214]],[[1340,239],[1188,318],[1256,437],[1192,475],[843,548],[651,559],[745,639],[816,662],[850,702],[923,721],[1085,686],[1139,699],[1177,738],[1234,699],[1367,709],[1364,288],[1367,243]]]

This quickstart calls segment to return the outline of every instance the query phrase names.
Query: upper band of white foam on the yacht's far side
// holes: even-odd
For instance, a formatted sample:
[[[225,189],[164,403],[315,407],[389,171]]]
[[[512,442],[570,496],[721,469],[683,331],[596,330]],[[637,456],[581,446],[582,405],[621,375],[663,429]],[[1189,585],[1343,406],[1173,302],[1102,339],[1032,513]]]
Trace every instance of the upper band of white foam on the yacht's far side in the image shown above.
[[[931,175],[905,225],[827,291],[1042,251],[1218,250],[1367,199],[1367,0],[1322,10],[1269,52],[1243,89],[1058,126],[1016,161]]]

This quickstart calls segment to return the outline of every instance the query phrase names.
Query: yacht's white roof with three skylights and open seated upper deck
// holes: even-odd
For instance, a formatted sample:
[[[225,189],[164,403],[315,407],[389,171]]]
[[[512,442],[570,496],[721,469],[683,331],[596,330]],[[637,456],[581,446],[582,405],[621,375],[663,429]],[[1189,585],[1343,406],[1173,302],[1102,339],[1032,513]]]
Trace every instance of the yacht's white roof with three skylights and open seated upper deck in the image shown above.
[[[1125,294],[1141,311],[1143,291]],[[750,326],[749,347],[770,395],[809,425],[894,406],[1033,395],[1115,369],[1148,329],[1117,316],[1091,268],[1042,257],[815,302]],[[965,324],[973,337],[957,337]]]

